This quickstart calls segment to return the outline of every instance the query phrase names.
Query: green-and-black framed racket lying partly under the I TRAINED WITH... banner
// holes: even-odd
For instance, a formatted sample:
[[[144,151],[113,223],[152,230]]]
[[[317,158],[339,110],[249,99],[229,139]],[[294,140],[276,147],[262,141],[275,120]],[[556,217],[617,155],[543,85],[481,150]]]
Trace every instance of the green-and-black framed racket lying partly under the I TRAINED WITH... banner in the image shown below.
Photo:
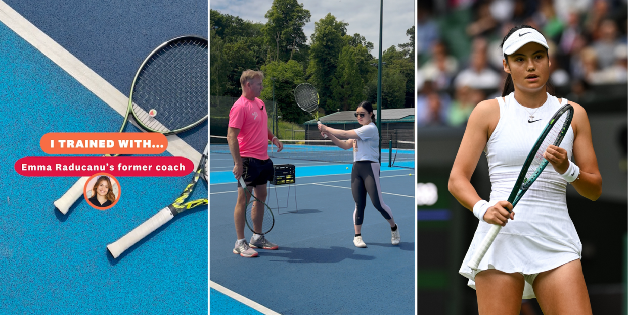
[[[133,79],[120,132],[131,116],[145,131],[165,136],[207,120],[207,59],[207,40],[197,36],[181,36],[155,48]],[[78,179],[54,202],[61,213],[65,215],[83,195],[87,179]]]

